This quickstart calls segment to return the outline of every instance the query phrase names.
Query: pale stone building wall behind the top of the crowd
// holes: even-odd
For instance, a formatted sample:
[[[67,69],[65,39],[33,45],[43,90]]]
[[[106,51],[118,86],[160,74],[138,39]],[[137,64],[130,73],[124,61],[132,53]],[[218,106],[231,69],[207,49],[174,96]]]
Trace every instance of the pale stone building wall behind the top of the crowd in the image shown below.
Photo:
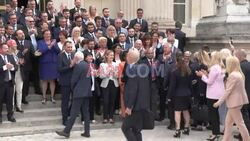
[[[66,3],[68,8],[74,6],[73,0],[55,0],[54,3],[57,9],[61,3]],[[188,22],[183,26],[183,30],[187,36],[195,37],[195,28],[199,20],[215,14],[215,0],[186,0],[186,4]],[[110,8],[113,18],[121,9],[125,13],[125,18],[129,20],[136,17],[137,8],[143,8],[144,17],[149,23],[159,22],[162,30],[174,26],[174,0],[82,0],[82,7],[88,9],[90,5],[96,6],[98,15],[102,15],[104,7]]]

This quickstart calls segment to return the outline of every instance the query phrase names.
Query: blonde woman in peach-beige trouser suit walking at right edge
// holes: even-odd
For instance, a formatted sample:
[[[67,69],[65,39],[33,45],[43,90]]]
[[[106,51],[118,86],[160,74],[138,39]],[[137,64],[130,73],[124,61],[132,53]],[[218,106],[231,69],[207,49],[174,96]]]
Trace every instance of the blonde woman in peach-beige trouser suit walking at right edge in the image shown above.
[[[243,141],[249,141],[249,133],[241,114],[242,106],[249,103],[245,90],[245,76],[241,70],[240,62],[235,56],[231,56],[226,59],[226,70],[229,74],[226,83],[226,92],[213,105],[217,108],[224,101],[226,101],[228,108],[224,137],[222,141],[231,140],[234,123],[239,128]]]

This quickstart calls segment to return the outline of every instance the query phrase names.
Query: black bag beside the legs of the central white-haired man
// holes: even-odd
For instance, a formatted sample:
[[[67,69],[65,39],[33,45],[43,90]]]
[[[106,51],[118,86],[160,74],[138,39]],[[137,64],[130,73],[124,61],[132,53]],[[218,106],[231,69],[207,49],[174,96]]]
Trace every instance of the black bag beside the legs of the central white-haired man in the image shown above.
[[[154,113],[150,110],[142,111],[142,129],[153,130],[155,127]]]

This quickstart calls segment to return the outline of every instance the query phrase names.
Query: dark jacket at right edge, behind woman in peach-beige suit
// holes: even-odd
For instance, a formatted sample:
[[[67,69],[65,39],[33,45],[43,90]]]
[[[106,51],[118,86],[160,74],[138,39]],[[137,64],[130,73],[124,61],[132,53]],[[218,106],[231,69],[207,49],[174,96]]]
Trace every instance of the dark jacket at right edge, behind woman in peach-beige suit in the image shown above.
[[[248,95],[248,99],[250,100],[250,62],[247,60],[241,61],[240,66],[242,72],[245,75],[245,88]]]

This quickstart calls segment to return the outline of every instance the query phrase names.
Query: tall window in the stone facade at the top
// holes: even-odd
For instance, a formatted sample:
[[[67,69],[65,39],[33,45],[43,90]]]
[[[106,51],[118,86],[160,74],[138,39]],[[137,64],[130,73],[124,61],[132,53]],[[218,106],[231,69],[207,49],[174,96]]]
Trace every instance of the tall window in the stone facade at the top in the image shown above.
[[[174,20],[187,24],[189,17],[189,0],[174,0]]]

